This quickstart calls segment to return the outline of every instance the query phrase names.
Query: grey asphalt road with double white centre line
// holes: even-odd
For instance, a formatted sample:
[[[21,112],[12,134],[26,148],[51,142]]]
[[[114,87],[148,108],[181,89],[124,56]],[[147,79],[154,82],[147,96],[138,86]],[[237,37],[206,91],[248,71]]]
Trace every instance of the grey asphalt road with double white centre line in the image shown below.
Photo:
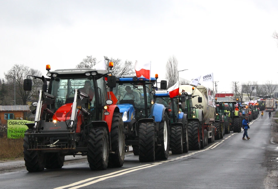
[[[242,140],[243,131],[231,132],[205,149],[171,154],[165,161],[140,163],[129,154],[122,168],[105,171],[90,171],[85,158],[59,170],[0,173],[0,188],[275,188],[266,167],[268,153],[278,151],[270,126],[268,116],[259,117],[250,124],[250,140]]]

